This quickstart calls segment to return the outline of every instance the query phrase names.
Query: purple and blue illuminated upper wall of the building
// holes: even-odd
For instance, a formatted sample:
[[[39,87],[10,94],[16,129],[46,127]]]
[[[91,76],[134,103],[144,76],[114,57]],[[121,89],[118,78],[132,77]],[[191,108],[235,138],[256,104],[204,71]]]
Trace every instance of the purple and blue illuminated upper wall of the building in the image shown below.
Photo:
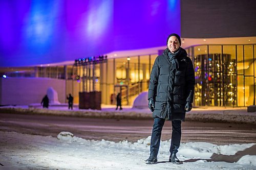
[[[0,1],[0,66],[29,66],[165,45],[180,1]]]

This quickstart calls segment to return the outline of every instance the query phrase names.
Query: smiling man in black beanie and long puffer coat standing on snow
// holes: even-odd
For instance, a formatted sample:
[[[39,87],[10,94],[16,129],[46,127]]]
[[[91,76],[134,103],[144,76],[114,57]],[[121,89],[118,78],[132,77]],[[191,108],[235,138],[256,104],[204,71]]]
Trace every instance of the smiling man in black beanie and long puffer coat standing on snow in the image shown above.
[[[148,107],[153,112],[154,124],[151,136],[150,157],[146,164],[157,162],[161,132],[165,120],[172,121],[172,141],[169,162],[179,163],[176,154],[180,147],[181,121],[185,112],[192,109],[195,86],[193,63],[180,47],[178,34],[170,34],[167,48],[158,56],[152,67],[148,87]]]

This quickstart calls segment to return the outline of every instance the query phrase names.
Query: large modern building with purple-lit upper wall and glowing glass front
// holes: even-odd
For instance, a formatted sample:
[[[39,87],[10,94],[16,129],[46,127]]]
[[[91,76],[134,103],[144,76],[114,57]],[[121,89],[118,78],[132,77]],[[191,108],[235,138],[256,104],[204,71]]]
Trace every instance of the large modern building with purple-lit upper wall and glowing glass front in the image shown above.
[[[115,104],[121,92],[122,104],[132,105],[147,91],[155,58],[173,32],[194,62],[195,106],[255,105],[254,1],[47,1],[25,3],[18,11],[18,1],[1,3],[0,105],[15,103],[6,102],[4,87],[15,82],[8,78],[61,80],[61,93],[72,93],[75,103],[79,92],[101,91],[102,104]],[[100,56],[107,58],[93,62]],[[59,96],[62,102],[65,97]]]

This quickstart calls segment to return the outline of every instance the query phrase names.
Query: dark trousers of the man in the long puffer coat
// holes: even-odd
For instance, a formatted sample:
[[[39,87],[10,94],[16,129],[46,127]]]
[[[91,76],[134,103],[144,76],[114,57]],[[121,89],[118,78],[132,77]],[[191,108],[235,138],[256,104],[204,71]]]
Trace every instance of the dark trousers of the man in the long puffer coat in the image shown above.
[[[165,119],[163,118],[154,118],[154,124],[152,129],[151,143],[150,143],[150,154],[157,157],[162,129]],[[180,147],[181,139],[181,120],[172,120],[172,141],[170,142],[170,154],[177,153],[178,148]]]

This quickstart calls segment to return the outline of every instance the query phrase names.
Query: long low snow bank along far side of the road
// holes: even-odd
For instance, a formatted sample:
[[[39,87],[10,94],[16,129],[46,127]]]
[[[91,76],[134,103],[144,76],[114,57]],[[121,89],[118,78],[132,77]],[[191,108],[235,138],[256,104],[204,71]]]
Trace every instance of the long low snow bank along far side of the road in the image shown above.
[[[186,121],[201,122],[225,122],[225,123],[250,123],[256,124],[256,114],[245,113],[240,110],[194,110],[186,113]],[[49,107],[49,109],[1,107],[0,113],[16,114],[45,114],[65,115],[93,118],[116,119],[152,119],[152,113],[147,109],[123,108],[116,111],[115,108],[103,108],[102,110],[68,110],[68,107]]]

